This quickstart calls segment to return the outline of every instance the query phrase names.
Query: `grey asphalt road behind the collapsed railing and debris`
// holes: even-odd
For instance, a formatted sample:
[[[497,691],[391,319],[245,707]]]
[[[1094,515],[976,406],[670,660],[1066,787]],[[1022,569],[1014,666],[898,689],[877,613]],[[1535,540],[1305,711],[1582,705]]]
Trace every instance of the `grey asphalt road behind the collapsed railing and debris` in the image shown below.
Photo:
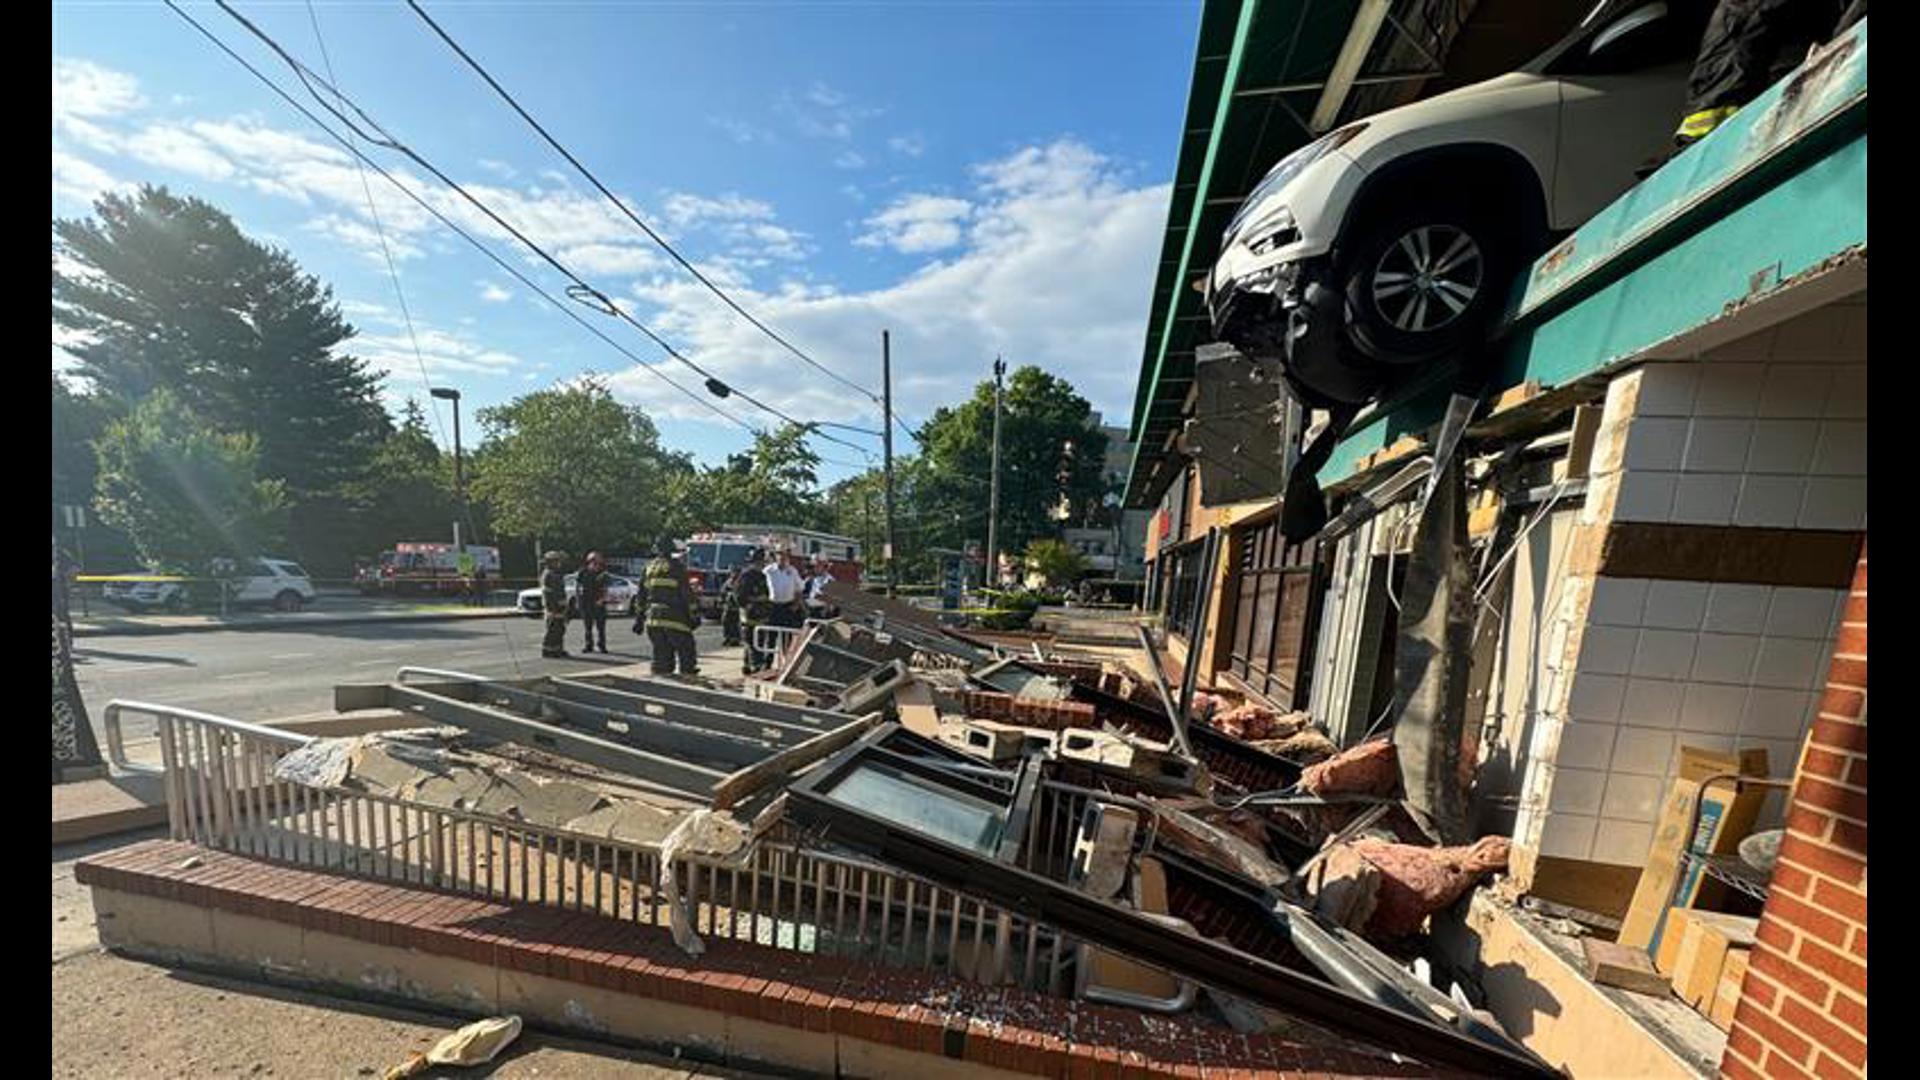
[[[543,659],[538,619],[480,619],[447,623],[363,623],[301,630],[209,630],[165,636],[86,636],[73,642],[73,673],[81,700],[100,726],[102,707],[115,698],[200,709],[236,721],[271,721],[334,707],[336,682],[380,682],[401,665],[440,667],[501,678],[593,671],[651,659],[632,619],[607,621],[609,655],[582,655],[580,623],[566,625],[572,659]],[[720,648],[718,625],[695,634],[703,655]],[[129,755],[148,742],[154,723],[129,717]]]

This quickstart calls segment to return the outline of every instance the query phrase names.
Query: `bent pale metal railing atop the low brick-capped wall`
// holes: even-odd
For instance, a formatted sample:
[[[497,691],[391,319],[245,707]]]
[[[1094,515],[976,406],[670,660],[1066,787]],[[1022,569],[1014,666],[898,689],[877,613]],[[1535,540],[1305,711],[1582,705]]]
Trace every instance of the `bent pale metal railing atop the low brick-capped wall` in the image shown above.
[[[409,667],[407,675],[470,678]],[[511,903],[593,911],[651,926],[985,984],[1071,992],[1075,942],[1012,911],[776,826],[735,859],[668,859],[636,844],[372,792],[313,788],[275,774],[311,736],[142,701],[108,705],[157,721],[175,840],[351,876]],[[123,755],[121,755],[123,759]],[[1039,865],[1071,847],[1077,807],[1035,815]],[[678,913],[676,913],[678,905]]]

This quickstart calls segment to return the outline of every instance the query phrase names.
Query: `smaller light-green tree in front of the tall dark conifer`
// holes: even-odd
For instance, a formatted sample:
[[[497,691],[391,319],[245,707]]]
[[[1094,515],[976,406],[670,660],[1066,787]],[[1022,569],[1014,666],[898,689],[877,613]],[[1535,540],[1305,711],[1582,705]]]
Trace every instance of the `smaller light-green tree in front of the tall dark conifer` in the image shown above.
[[[150,567],[198,573],[282,544],[286,484],[261,479],[252,434],[213,430],[159,388],[100,434],[96,507]]]

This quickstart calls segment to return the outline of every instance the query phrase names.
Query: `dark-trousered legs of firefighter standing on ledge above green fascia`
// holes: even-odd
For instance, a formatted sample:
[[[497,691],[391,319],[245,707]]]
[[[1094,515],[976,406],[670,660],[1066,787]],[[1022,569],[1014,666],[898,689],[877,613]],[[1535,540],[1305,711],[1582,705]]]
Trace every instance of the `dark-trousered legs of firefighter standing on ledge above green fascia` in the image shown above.
[[[1720,0],[1686,83],[1684,148],[1799,67],[1807,50],[1866,15],[1866,0]]]

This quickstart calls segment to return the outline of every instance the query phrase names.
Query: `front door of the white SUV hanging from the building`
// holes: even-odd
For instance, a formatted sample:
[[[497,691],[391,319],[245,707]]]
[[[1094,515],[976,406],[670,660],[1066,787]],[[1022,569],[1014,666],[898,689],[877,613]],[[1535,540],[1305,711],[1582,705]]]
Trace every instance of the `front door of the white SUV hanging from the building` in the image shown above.
[[[1705,21],[1697,0],[1620,4],[1548,67],[1561,85],[1553,229],[1578,229],[1672,146]]]

